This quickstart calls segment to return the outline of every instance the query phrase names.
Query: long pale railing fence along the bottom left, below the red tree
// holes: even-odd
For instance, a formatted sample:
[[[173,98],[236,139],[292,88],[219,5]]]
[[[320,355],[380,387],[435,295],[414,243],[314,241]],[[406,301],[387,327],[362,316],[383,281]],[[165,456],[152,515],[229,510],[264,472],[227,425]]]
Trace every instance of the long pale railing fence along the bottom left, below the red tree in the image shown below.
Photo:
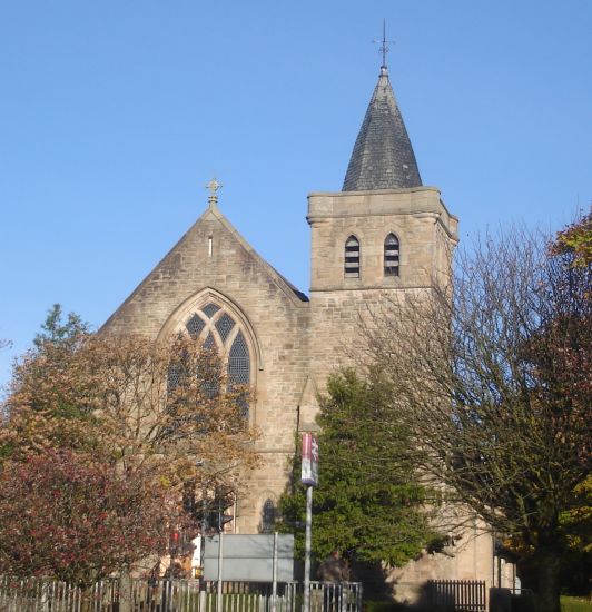
[[[118,612],[119,581],[98,582],[82,591],[63,582],[43,579],[0,578],[0,612]],[[304,585],[224,582],[224,612],[300,612]],[[121,606],[122,608],[122,606]],[[132,580],[134,612],[216,612],[216,582],[197,580]],[[310,583],[310,612],[362,612],[362,584]]]

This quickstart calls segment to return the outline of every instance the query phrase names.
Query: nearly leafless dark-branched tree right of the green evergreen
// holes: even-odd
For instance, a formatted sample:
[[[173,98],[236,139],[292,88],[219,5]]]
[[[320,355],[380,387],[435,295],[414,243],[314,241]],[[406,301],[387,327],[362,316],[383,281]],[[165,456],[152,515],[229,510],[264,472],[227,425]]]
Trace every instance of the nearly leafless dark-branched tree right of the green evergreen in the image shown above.
[[[411,431],[410,458],[451,502],[522,544],[542,612],[560,610],[560,516],[590,472],[591,270],[572,256],[524,231],[487,237],[448,284],[365,326],[388,426]]]

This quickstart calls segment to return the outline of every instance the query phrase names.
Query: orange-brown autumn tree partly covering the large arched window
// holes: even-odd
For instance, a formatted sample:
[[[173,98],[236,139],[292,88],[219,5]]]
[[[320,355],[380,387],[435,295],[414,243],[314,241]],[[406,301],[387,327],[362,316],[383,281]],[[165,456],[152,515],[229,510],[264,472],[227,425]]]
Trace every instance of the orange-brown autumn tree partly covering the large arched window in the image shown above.
[[[178,336],[86,335],[43,343],[17,366],[0,448],[107,448],[125,468],[201,491],[237,483],[256,462],[243,417],[249,391],[229,388],[215,351]]]

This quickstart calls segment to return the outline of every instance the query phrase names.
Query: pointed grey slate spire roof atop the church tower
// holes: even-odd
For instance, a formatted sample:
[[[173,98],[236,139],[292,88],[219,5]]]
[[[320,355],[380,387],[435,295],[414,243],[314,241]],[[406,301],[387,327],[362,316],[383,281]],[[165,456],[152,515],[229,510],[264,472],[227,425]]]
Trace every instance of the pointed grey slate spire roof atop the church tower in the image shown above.
[[[422,179],[386,66],[366,110],[343,191],[421,187]]]

